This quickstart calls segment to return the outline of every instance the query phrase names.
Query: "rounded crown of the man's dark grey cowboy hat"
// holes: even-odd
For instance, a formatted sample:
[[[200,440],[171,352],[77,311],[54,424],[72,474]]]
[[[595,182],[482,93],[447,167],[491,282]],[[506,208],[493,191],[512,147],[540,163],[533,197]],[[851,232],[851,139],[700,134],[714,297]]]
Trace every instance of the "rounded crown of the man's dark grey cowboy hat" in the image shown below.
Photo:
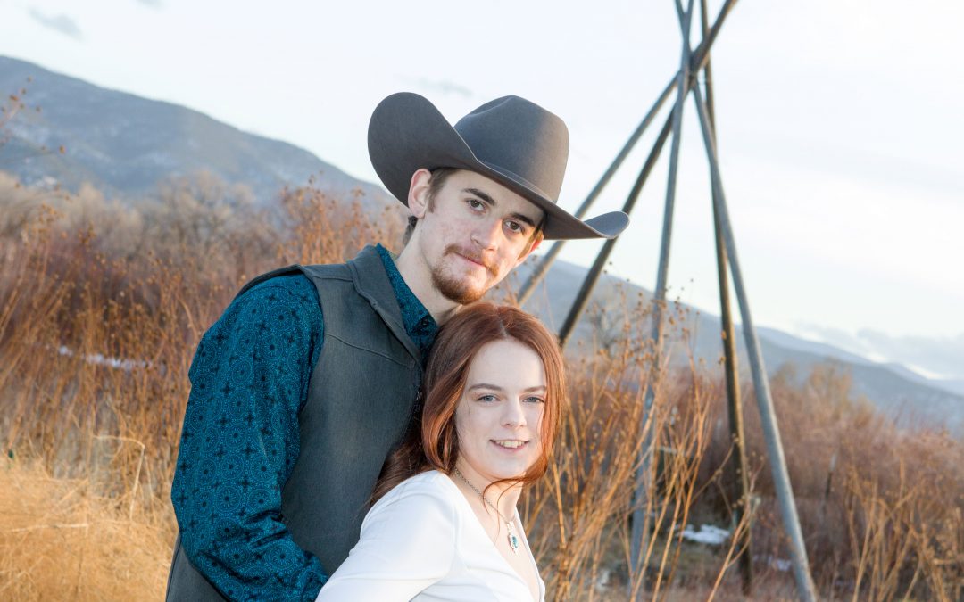
[[[561,118],[519,96],[502,96],[459,119],[455,131],[490,168],[558,201],[569,158]]]

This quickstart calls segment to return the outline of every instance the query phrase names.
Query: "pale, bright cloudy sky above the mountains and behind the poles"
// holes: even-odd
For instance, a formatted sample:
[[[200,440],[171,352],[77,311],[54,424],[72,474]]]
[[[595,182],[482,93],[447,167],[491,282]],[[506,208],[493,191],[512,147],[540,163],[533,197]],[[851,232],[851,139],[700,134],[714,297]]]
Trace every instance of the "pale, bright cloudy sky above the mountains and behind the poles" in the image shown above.
[[[0,54],[196,109],[370,181],[368,118],[389,93],[421,93],[453,122],[522,95],[569,125],[570,211],[680,65],[671,0],[334,5],[0,0]],[[713,87],[757,325],[964,380],[962,21],[956,0],[736,3],[713,48]],[[622,206],[657,129],[590,215]],[[692,100],[681,142],[668,297],[718,313]],[[611,273],[651,289],[668,150],[611,256]],[[573,243],[562,258],[588,265],[598,249]]]

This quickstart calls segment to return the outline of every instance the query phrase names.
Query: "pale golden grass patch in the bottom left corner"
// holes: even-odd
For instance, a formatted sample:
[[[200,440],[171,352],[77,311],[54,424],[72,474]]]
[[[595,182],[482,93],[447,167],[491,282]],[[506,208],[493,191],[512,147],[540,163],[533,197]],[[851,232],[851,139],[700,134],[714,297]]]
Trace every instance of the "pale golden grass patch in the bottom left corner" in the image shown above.
[[[163,596],[173,537],[169,516],[99,494],[90,479],[57,479],[37,464],[4,464],[0,598]]]

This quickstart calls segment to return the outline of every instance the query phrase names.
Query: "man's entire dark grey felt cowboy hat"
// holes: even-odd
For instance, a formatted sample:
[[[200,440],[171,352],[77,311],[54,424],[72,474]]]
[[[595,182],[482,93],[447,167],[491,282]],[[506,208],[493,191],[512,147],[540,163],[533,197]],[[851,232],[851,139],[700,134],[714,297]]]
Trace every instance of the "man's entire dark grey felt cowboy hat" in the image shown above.
[[[613,211],[582,221],[558,204],[569,155],[562,119],[519,96],[489,101],[454,127],[426,98],[391,94],[368,123],[368,155],[388,192],[406,205],[419,169],[472,170],[546,212],[547,239],[615,238],[629,216]]]

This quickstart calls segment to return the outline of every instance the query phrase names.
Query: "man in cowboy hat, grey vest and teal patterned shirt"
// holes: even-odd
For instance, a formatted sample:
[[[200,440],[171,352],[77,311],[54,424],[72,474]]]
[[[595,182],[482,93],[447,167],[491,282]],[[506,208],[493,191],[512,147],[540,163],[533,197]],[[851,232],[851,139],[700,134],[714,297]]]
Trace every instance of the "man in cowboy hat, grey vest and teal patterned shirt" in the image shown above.
[[[516,96],[455,127],[425,98],[388,96],[372,164],[415,228],[397,259],[255,278],[201,339],[172,487],[169,600],[312,600],[357,542],[372,488],[418,411],[438,325],[546,238],[611,238],[614,212],[556,206],[561,119]]]

